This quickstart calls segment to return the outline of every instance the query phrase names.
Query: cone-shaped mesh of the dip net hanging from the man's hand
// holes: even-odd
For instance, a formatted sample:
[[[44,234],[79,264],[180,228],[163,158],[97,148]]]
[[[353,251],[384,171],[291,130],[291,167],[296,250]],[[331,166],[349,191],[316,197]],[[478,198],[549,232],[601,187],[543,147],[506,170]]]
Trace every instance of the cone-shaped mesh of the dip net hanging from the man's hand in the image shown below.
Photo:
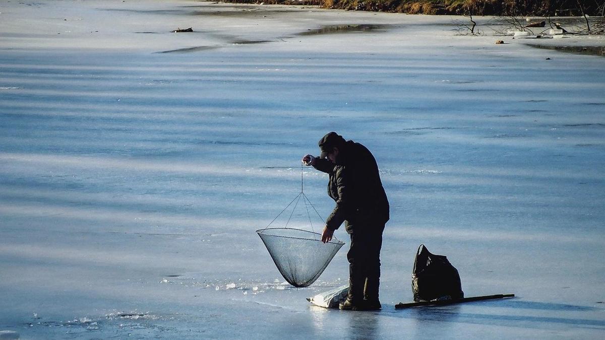
[[[266,228],[258,236],[284,279],[294,287],[307,287],[319,278],[344,242],[321,242],[316,232],[295,228]]]

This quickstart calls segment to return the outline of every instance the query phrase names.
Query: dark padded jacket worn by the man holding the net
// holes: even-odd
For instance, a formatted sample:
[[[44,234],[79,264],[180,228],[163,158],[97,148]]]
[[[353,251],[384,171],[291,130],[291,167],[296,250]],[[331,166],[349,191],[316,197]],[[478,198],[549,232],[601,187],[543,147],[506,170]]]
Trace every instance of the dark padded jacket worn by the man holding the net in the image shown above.
[[[336,163],[317,159],[314,166],[330,175],[328,195],[336,201],[325,221],[327,227],[336,230],[344,221],[345,229],[352,234],[356,225],[384,226],[389,218],[387,194],[371,152],[349,140],[339,148]]]

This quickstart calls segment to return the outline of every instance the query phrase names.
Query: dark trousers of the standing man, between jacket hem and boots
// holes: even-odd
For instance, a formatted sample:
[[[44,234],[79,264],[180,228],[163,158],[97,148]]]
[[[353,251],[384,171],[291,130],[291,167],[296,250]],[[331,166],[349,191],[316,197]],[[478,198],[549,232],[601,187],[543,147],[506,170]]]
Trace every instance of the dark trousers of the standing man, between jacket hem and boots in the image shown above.
[[[347,253],[349,277],[352,280],[379,278],[384,224],[356,225],[352,229],[351,247]]]

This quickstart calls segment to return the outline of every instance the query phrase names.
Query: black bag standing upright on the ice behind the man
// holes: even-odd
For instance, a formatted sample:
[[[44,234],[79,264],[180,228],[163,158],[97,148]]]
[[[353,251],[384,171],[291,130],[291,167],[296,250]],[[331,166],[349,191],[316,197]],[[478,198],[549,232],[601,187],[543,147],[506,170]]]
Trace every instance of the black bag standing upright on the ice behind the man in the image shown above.
[[[443,255],[435,255],[420,244],[412,272],[414,302],[464,297],[458,270]]]

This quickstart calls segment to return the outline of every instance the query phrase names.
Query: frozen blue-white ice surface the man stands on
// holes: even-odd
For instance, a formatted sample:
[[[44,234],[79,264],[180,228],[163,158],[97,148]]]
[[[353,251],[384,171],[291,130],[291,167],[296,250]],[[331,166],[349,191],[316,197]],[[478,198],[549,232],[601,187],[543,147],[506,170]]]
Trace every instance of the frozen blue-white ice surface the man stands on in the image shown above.
[[[603,57],[457,36],[456,17],[130,0],[0,12],[1,332],[603,337]],[[378,28],[339,28],[362,24]],[[381,168],[381,312],[310,306],[346,283],[346,252],[295,289],[254,232],[328,131]],[[327,178],[302,175],[327,217]],[[395,310],[420,243],[465,295],[518,297]]]

